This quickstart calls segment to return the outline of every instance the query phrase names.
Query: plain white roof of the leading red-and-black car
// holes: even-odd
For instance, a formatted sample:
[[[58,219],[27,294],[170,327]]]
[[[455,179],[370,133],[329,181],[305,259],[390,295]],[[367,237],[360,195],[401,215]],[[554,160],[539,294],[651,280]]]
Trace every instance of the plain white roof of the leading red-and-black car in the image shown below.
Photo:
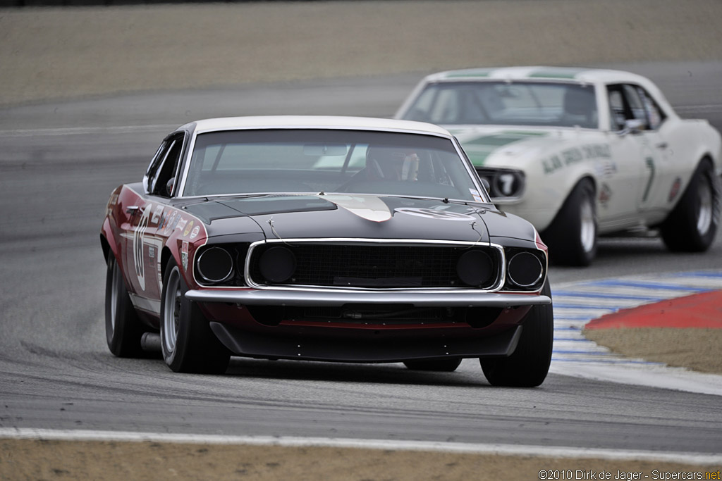
[[[342,128],[373,131],[411,131],[435,136],[451,137],[445,128],[431,123],[371,117],[344,117],[323,115],[262,115],[255,117],[227,117],[196,120],[181,128],[195,124],[196,132],[225,131],[249,128]]]

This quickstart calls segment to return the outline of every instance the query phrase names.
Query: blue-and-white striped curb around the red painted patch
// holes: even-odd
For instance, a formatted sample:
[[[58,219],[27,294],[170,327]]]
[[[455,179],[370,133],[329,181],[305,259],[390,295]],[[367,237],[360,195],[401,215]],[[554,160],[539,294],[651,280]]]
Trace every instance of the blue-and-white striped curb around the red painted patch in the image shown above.
[[[554,374],[722,395],[722,376],[612,353],[582,335],[591,320],[621,309],[722,289],[721,270],[552,283]]]

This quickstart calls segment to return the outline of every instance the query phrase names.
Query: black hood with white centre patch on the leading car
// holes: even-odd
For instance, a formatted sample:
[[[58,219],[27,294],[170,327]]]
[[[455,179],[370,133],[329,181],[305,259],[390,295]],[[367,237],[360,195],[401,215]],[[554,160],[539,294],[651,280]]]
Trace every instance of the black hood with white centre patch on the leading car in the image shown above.
[[[521,219],[509,219],[492,206],[444,202],[440,199],[377,195],[264,195],[216,198],[186,206],[209,224],[209,235],[248,230],[253,219],[269,239],[435,239],[489,242],[490,228],[505,237],[534,239]],[[243,227],[232,219],[247,218]],[[515,226],[516,225],[516,226]],[[254,229],[255,230],[255,229]],[[530,234],[531,233],[531,234]]]

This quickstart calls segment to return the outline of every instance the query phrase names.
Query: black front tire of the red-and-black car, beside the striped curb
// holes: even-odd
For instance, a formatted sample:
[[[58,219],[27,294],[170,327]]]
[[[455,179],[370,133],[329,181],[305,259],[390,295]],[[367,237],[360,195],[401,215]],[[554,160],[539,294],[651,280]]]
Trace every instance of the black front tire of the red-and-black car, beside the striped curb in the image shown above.
[[[549,281],[541,294],[552,296]],[[552,304],[532,306],[522,325],[521,339],[511,356],[479,360],[492,386],[536,387],[547,378],[554,343]]]

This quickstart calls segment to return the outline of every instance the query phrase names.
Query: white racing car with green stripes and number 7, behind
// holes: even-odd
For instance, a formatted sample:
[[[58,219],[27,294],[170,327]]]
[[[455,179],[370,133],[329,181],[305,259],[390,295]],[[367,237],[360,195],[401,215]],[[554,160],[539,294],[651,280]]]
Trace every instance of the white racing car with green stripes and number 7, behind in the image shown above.
[[[466,69],[423,79],[396,118],[448,128],[492,200],[529,221],[551,260],[588,265],[600,234],[658,229],[701,252],[720,219],[721,138],[625,71]]]

